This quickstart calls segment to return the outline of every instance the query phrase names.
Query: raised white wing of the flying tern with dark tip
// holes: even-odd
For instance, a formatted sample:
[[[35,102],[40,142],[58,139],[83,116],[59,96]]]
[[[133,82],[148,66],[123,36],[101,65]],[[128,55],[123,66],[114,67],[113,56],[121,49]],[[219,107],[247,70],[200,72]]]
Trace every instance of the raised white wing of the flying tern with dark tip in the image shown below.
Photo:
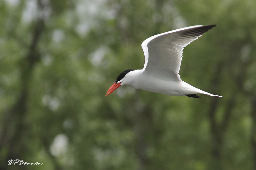
[[[149,37],[141,44],[145,55],[144,72],[161,79],[181,80],[183,48],[215,26],[189,26]]]

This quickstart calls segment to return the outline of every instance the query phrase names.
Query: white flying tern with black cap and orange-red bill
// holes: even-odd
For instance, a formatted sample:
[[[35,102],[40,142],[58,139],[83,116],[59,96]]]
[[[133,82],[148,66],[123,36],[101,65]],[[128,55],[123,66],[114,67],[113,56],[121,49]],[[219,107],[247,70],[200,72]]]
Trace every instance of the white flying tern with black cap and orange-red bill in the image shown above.
[[[149,37],[141,44],[145,55],[143,69],[124,70],[108,89],[106,96],[121,85],[128,85],[135,89],[170,96],[200,98],[196,93],[201,93],[222,97],[189,85],[182,81],[179,75],[183,48],[215,26],[217,25],[188,26]]]

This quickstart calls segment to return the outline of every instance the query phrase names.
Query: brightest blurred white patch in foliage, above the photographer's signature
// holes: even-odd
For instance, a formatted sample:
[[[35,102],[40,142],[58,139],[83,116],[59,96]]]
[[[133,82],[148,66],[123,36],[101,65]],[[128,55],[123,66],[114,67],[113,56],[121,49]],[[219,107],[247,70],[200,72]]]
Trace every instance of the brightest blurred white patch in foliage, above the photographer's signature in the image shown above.
[[[54,156],[64,155],[67,152],[67,149],[68,137],[64,134],[57,135],[50,146],[50,152]]]

